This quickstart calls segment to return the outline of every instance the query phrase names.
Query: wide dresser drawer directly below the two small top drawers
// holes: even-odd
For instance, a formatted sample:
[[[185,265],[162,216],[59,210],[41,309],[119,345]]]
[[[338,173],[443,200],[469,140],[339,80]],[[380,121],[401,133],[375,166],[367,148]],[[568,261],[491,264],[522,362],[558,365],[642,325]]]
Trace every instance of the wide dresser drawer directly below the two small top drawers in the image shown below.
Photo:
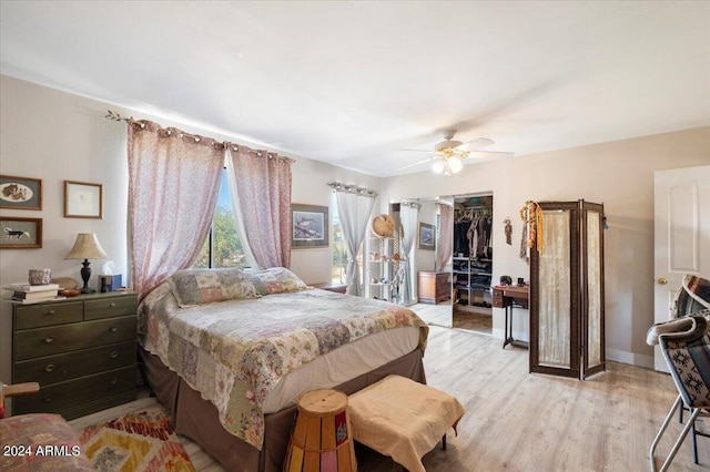
[[[133,315],[17,331],[14,361],[134,340],[135,322]]]

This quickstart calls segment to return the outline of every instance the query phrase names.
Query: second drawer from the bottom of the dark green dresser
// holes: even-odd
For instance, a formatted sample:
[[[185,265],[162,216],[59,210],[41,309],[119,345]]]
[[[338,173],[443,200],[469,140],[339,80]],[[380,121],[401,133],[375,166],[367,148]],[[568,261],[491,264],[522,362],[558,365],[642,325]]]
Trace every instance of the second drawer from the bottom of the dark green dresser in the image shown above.
[[[12,381],[47,386],[131,366],[135,360],[135,341],[121,342],[17,362]]]

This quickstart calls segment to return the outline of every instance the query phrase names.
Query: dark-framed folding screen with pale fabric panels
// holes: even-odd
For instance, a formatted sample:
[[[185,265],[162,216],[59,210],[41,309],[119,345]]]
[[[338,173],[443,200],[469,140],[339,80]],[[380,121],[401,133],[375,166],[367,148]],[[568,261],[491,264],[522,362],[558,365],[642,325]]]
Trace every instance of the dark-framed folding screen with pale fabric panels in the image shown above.
[[[604,371],[604,205],[528,204],[538,222],[530,250],[530,372],[582,379]]]

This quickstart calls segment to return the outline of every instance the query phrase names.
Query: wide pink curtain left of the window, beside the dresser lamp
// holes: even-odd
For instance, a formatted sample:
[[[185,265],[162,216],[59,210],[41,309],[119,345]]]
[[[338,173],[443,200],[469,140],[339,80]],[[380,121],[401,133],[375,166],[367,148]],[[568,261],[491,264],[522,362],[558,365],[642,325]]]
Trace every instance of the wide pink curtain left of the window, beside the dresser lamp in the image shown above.
[[[131,280],[142,298],[191,267],[220,191],[224,145],[149,121],[129,121]]]

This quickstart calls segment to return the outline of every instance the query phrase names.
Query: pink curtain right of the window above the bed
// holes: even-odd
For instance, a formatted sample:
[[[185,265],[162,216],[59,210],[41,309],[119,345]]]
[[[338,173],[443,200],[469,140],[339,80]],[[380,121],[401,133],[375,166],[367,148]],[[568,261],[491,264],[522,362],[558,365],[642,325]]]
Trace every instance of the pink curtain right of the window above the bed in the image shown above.
[[[291,267],[293,160],[246,146],[227,154],[230,193],[244,252],[257,268]]]

